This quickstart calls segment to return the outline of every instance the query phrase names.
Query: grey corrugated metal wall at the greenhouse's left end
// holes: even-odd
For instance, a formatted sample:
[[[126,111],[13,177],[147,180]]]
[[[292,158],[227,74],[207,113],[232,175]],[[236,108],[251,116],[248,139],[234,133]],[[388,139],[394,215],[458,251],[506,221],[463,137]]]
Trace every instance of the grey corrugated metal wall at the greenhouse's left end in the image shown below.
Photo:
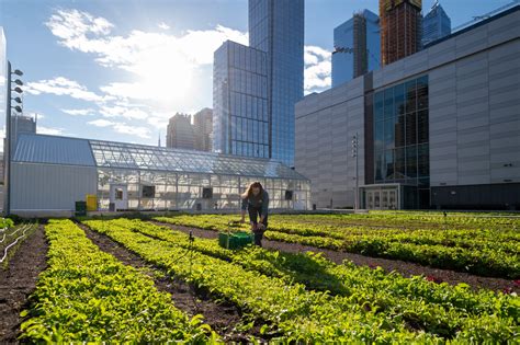
[[[74,210],[75,202],[98,191],[95,168],[13,162],[11,175],[13,214]]]

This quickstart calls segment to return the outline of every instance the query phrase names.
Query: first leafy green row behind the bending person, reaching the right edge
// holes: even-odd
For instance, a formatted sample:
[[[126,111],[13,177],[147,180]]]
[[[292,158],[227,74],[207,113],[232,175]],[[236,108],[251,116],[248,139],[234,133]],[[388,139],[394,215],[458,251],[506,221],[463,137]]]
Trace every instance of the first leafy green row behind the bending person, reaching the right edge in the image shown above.
[[[178,216],[156,217],[154,219],[179,226],[223,231],[228,229],[227,222],[233,218],[229,216]],[[399,238],[392,238],[395,231],[386,235],[382,231],[374,232],[370,228],[365,230],[365,234],[362,237],[349,239],[347,233],[338,239],[328,235],[327,231],[313,232],[312,228],[306,227],[308,225],[302,225],[298,229],[279,231],[282,227],[271,222],[269,231],[265,232],[265,238],[370,256],[404,260],[437,268],[448,268],[483,276],[511,279],[520,277],[519,244],[516,242],[506,243],[502,246],[500,241],[488,239],[486,246],[472,249],[446,246],[444,244],[420,244],[421,234],[417,235],[417,241],[415,241],[417,243],[399,241]],[[246,230],[247,228],[244,226],[239,229]],[[472,230],[472,232],[474,231]],[[430,240],[434,234],[429,233],[427,239]],[[440,235],[438,237],[440,238]],[[456,239],[456,235],[453,235],[453,239]]]

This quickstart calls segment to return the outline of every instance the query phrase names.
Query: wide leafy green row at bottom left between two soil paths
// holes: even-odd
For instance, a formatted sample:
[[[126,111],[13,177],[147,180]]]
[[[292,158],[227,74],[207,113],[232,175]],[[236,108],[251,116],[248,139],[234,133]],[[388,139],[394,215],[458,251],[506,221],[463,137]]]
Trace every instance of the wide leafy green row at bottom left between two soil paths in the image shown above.
[[[216,335],[159,292],[150,277],[103,253],[69,220],[50,220],[48,265],[22,312],[37,343],[207,342]]]

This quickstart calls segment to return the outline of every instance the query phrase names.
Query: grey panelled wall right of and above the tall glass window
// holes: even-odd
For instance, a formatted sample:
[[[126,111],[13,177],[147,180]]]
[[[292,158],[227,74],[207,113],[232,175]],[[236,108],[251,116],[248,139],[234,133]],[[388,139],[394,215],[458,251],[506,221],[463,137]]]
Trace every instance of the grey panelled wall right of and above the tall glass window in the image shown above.
[[[520,11],[374,71],[429,74],[430,184],[520,182]]]

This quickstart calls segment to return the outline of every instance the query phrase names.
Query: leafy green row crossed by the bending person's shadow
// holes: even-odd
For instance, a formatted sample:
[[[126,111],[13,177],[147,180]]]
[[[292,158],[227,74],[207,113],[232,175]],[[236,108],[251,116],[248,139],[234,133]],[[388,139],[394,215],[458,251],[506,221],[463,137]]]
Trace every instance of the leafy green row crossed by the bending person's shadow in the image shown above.
[[[520,315],[517,298],[489,290],[473,292],[467,285],[437,285],[421,277],[409,279],[351,263],[336,265],[315,254],[280,253],[256,246],[230,251],[207,239],[196,239],[190,243],[183,232],[139,220],[118,219],[109,223],[113,228],[123,227],[167,241],[170,245],[184,249],[192,246],[201,253],[231,261],[248,271],[283,278],[289,284],[296,281],[304,284],[307,289],[347,296],[351,302],[377,308],[378,313],[391,317],[404,315],[405,320],[412,320],[425,331],[442,336],[454,336],[457,330],[470,323],[470,319],[481,319],[484,314],[504,319],[505,324],[508,323],[507,319],[516,320]],[[414,317],[406,313],[410,310],[414,310]],[[512,332],[516,324],[510,322],[509,325]]]

